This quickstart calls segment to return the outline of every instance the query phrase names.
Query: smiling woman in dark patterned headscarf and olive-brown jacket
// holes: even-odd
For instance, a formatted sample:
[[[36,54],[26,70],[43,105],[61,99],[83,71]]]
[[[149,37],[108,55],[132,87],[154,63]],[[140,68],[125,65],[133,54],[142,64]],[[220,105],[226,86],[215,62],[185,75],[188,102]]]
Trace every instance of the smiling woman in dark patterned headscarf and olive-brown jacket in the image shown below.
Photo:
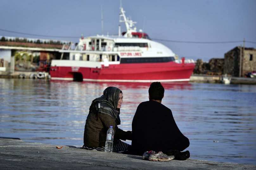
[[[113,152],[130,149],[131,145],[121,140],[131,140],[131,132],[118,128],[122,103],[123,93],[116,87],[106,88],[101,97],[92,101],[85,124],[83,149],[104,150],[110,126],[114,130]]]

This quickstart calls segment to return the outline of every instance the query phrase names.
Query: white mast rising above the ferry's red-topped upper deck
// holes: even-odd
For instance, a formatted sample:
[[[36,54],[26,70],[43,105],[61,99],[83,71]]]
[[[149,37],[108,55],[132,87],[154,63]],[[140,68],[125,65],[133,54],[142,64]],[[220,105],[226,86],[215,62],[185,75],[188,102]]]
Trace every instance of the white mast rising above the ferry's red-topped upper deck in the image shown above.
[[[121,20],[121,17],[124,18],[124,20]],[[127,32],[124,34],[124,37],[132,37],[131,33],[137,33],[136,27],[134,24],[137,22],[133,22],[132,20],[126,19],[125,11],[122,7],[120,7],[120,14],[119,14],[119,22],[124,22]]]

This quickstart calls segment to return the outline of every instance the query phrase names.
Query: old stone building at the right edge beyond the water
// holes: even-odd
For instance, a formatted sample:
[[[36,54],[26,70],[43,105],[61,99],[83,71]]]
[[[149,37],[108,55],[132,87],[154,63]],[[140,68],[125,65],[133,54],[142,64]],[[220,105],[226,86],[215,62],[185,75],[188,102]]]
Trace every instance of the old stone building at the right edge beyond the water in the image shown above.
[[[240,60],[241,57],[241,60]],[[240,67],[241,65],[241,67]],[[237,46],[224,55],[224,74],[242,77],[256,70],[256,49]]]

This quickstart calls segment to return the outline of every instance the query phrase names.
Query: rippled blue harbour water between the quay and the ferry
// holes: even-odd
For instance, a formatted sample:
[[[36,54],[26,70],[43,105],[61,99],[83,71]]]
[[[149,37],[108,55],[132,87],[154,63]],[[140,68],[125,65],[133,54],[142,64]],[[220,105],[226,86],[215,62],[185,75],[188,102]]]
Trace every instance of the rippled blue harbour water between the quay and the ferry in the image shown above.
[[[148,100],[149,85],[0,79],[0,136],[81,146],[91,101],[108,86],[123,91],[119,127],[131,130],[138,104]],[[256,165],[255,85],[163,83],[163,86],[162,103],[172,110],[178,127],[189,138],[190,158]]]

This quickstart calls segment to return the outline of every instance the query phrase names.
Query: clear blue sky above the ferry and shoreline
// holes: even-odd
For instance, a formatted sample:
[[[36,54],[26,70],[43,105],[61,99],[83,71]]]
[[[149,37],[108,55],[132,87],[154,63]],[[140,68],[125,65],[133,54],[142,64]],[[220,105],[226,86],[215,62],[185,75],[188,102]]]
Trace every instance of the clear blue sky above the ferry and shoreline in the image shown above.
[[[118,34],[120,0],[1,0],[0,29],[51,36]],[[126,16],[152,39],[192,42],[256,42],[255,0],[122,0]],[[145,24],[144,24],[145,23]],[[125,31],[124,23],[121,29]],[[49,38],[0,30],[0,36]],[[79,38],[52,38],[79,42]],[[224,58],[243,42],[197,44],[158,41],[179,57]],[[256,43],[245,43],[256,48]]]

